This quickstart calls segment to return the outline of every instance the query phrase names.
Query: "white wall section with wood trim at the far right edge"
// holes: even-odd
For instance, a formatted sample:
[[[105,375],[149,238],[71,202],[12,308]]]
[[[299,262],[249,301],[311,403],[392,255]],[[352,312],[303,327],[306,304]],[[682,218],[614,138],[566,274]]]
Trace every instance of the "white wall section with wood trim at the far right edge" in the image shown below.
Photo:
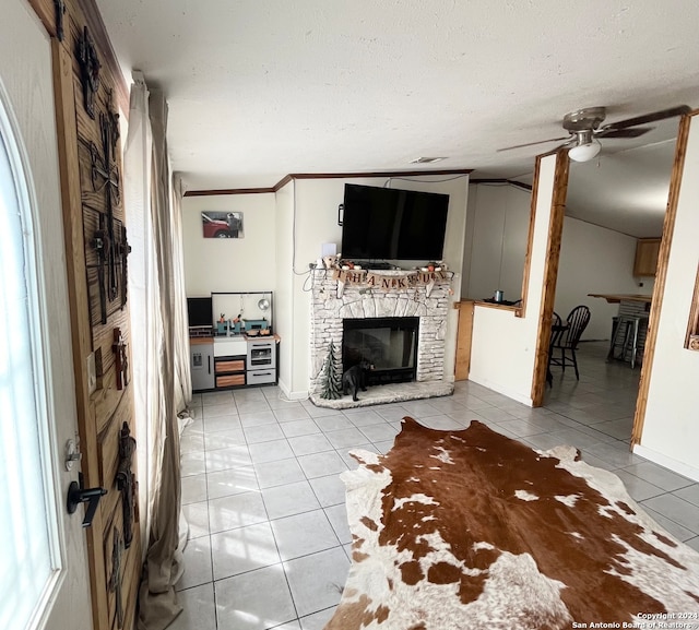
[[[685,349],[699,265],[699,120],[692,118],[641,444],[635,452],[699,482],[699,353]]]

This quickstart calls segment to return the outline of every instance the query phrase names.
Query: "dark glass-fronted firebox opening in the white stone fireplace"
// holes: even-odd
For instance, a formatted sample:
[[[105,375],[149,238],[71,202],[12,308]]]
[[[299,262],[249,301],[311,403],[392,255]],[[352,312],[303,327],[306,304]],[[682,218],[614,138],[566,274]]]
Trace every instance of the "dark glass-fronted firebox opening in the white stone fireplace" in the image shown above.
[[[342,369],[369,361],[367,384],[407,383],[417,373],[419,318],[362,318],[342,321]]]

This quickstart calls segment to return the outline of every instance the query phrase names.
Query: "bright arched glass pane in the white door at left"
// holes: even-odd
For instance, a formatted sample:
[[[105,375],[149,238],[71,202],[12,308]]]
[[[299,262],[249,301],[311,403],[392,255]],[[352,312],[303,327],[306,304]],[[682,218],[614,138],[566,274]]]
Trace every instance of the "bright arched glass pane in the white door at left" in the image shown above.
[[[60,558],[29,194],[0,100],[0,628],[32,627]]]

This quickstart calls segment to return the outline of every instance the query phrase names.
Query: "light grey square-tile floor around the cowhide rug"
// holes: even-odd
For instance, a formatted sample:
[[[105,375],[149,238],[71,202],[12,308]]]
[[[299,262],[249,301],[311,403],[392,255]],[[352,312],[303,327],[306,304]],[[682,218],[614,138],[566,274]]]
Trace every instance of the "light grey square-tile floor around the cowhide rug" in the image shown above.
[[[387,452],[404,415],[443,430],[478,419],[534,448],[573,444],[699,550],[699,484],[629,452],[639,370],[605,354],[582,344],[580,381],[554,368],[538,409],[467,381],[452,396],[344,412],[281,400],[275,387],[194,396],[181,440],[185,611],[173,630],[320,630],[350,568],[347,451]]]

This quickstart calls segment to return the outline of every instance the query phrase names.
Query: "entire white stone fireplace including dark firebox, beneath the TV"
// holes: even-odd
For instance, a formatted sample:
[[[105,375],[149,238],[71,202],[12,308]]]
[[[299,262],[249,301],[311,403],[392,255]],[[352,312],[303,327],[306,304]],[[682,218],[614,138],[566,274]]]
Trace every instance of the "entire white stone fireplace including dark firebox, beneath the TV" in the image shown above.
[[[311,302],[311,377],[310,400],[317,406],[344,408],[386,402],[399,402],[453,393],[453,382],[445,380],[445,335],[447,317],[451,306],[451,282],[447,274],[422,275],[419,283],[406,282],[415,272],[380,271],[376,272],[381,283],[366,282],[366,275],[350,274],[347,282],[333,278],[332,270],[315,270],[312,274]],[[375,278],[376,280],[376,278]],[[376,330],[388,328],[388,320],[414,321],[414,349],[411,349],[410,336]],[[355,321],[352,321],[355,320]],[[406,326],[398,326],[406,328]],[[411,326],[407,326],[411,328]],[[374,379],[377,383],[368,392],[359,393],[359,401],[352,396],[337,400],[321,397],[325,377],[323,368],[332,343],[337,356],[343,349],[346,330],[369,329],[372,332],[366,344],[376,347],[363,347],[355,350],[348,362],[356,362],[358,354],[370,354],[364,358],[383,361],[387,355],[399,356],[399,362],[411,359],[410,365],[381,367],[382,371]],[[351,333],[352,334],[352,333]],[[399,341],[386,344],[388,337]],[[377,341],[378,337],[378,341]],[[392,349],[386,349],[393,346]],[[411,372],[408,379],[399,379],[394,370]],[[395,382],[407,380],[410,382]],[[378,384],[386,383],[386,384]]]

